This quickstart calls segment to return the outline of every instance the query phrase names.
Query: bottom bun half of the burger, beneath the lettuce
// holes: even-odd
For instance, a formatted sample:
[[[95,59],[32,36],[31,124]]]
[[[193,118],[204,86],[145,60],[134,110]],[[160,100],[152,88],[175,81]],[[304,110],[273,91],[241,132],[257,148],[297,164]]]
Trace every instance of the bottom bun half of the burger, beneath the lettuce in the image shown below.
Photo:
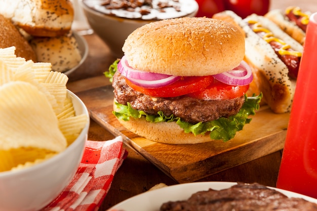
[[[115,104],[113,110],[118,111]],[[118,119],[118,121],[132,133],[144,137],[148,140],[165,144],[199,144],[213,141],[209,133],[203,135],[193,135],[185,133],[183,129],[174,122],[148,122],[145,117],[136,119],[130,116],[129,121]]]

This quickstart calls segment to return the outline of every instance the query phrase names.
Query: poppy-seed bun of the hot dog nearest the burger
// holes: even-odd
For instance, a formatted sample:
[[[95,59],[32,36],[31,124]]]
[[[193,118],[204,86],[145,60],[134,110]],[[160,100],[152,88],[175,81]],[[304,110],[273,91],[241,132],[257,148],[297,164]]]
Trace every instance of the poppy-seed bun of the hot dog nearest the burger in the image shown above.
[[[251,15],[242,19],[232,11],[224,11],[214,15],[216,19],[228,19],[239,25],[246,34],[245,60],[253,71],[253,82],[250,85],[249,93],[263,93],[262,102],[268,104],[275,113],[288,112],[292,106],[295,92],[296,80],[288,76],[289,69],[283,61],[275,54],[273,48],[248,25],[248,20],[255,20],[288,43],[295,51],[302,52],[302,46],[282,31],[276,24],[263,16]]]

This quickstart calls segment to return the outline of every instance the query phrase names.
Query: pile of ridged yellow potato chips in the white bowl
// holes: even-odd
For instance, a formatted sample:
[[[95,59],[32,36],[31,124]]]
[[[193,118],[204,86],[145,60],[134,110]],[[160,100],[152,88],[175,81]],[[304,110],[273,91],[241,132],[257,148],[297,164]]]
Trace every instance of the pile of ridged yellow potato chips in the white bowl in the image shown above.
[[[0,172],[24,168],[62,152],[87,123],[67,98],[67,75],[50,63],[0,49]]]

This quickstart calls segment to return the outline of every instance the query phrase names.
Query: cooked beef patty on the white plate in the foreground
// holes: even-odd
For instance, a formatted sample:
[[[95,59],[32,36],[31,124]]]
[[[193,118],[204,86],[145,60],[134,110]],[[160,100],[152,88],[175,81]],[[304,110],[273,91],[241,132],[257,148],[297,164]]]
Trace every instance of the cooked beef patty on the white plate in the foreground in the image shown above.
[[[191,195],[188,200],[169,201],[160,211],[264,211],[317,210],[317,204],[302,198],[288,198],[273,189],[257,183],[239,183],[220,191],[210,189]]]

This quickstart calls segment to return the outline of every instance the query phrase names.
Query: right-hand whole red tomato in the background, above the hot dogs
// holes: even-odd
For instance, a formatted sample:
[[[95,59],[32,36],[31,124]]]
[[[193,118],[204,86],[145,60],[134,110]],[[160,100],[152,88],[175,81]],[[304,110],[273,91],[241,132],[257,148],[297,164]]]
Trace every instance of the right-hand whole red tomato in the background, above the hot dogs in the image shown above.
[[[224,0],[226,10],[232,10],[242,18],[253,13],[265,15],[269,9],[269,0]]]

